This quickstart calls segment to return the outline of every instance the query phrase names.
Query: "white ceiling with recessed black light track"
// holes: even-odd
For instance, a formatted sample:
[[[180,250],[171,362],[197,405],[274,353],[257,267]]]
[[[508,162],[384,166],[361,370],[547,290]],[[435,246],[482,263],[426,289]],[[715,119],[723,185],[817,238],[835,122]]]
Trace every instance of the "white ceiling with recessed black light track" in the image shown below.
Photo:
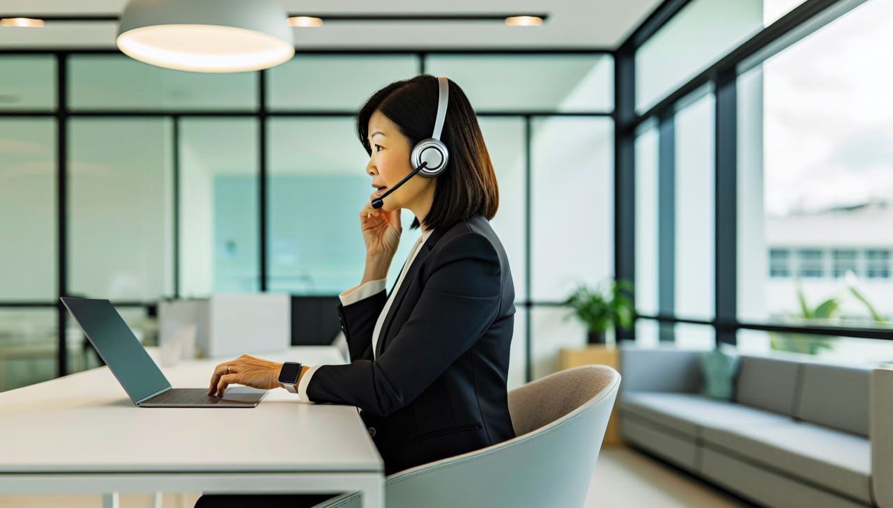
[[[660,0],[281,0],[289,13],[472,14],[506,15],[546,12],[540,27],[507,27],[501,21],[336,22],[318,29],[295,29],[298,51],[304,48],[593,48],[618,46]],[[127,0],[4,0],[0,17],[9,14],[119,15]],[[0,27],[0,48],[114,47],[117,23],[49,22],[41,29]]]

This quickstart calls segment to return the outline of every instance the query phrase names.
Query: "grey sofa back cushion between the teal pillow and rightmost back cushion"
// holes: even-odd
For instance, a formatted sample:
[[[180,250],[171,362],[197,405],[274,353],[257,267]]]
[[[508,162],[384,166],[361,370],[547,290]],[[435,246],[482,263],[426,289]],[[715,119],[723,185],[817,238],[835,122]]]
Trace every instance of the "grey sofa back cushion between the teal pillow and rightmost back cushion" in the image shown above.
[[[794,414],[794,397],[801,362],[742,355],[735,400],[781,414]]]

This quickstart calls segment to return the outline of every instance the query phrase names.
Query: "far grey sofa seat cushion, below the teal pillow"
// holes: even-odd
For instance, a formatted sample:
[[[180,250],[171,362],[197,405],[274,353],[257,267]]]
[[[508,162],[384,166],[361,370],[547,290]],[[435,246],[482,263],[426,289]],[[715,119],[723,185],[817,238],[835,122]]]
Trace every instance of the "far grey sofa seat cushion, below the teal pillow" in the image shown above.
[[[621,397],[620,408],[622,412],[630,412],[689,436],[697,436],[699,427],[791,421],[789,417],[773,412],[696,394],[626,393]]]

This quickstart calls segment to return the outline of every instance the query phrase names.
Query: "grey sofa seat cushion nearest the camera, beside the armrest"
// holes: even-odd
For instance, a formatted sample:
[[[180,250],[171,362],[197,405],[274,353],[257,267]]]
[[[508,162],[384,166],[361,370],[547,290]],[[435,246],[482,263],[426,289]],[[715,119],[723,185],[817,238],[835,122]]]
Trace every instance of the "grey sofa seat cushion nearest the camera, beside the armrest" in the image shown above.
[[[872,504],[871,445],[865,437],[808,422],[704,429],[705,446]]]

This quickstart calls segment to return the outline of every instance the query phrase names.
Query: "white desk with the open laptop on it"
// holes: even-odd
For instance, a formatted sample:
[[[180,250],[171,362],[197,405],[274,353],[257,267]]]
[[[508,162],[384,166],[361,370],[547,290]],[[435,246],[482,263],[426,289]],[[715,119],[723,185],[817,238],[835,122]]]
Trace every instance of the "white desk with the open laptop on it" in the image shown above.
[[[331,346],[256,356],[344,362]],[[229,359],[162,370],[173,387],[208,387]],[[384,464],[355,407],[281,388],[251,409],[140,408],[102,367],[0,393],[0,494],[159,491],[362,491],[383,508]]]

